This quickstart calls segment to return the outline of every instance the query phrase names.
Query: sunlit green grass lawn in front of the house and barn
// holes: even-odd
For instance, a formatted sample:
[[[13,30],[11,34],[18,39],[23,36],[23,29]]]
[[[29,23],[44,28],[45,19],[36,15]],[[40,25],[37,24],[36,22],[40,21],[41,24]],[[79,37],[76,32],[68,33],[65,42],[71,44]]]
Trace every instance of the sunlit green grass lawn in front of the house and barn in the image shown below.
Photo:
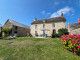
[[[0,40],[0,60],[80,60],[67,51],[58,38]]]

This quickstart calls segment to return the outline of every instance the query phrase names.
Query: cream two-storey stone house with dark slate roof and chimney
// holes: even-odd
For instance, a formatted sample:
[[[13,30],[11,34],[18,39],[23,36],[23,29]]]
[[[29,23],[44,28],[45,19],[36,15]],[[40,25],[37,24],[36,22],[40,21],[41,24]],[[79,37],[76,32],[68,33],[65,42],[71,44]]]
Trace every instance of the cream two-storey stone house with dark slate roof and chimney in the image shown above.
[[[54,17],[50,19],[38,20],[35,19],[31,23],[31,34],[32,36],[52,36],[52,33],[61,28],[66,28],[66,19],[63,13],[59,17]]]

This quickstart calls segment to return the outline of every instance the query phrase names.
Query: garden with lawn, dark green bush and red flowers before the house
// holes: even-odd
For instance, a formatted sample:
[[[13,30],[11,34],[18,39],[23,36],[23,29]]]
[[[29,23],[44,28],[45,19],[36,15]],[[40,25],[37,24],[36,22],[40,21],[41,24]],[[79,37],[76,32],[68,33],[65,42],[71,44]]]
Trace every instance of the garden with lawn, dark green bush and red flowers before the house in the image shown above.
[[[9,30],[3,31],[7,33]],[[53,38],[2,38],[0,60],[80,60],[79,34],[71,35],[67,29],[60,29],[59,34],[52,36]]]

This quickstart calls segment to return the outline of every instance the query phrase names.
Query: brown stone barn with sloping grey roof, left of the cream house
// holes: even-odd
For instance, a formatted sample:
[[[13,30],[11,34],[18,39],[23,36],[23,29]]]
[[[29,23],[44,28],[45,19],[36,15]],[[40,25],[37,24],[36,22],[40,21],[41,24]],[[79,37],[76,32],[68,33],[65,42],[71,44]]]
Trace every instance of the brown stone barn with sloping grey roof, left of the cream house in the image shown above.
[[[3,25],[3,28],[10,28],[9,34],[14,36],[26,36],[30,34],[30,27],[23,25],[21,23],[18,23],[14,20],[8,19],[5,24]]]

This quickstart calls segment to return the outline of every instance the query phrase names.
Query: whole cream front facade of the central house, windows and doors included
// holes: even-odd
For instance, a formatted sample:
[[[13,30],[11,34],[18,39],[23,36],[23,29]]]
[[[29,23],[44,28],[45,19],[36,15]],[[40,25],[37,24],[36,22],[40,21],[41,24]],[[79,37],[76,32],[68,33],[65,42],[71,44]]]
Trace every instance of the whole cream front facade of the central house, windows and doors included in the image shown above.
[[[63,19],[63,17],[61,17]],[[61,29],[61,28],[66,28],[65,27],[65,22],[66,21],[53,21],[49,20],[46,21],[46,20],[43,20],[43,23],[42,22],[35,22],[35,23],[32,23],[31,25],[31,34],[32,36],[51,36],[52,35],[52,32],[53,30],[55,29],[56,33],[58,33],[58,29]]]

